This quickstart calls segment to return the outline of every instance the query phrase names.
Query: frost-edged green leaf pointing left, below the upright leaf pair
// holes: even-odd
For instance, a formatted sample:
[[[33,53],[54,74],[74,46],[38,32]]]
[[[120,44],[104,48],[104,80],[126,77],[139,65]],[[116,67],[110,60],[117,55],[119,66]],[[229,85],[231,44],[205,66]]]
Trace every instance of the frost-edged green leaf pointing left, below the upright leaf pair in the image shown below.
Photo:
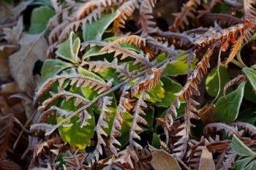
[[[62,70],[71,68],[72,66],[73,65],[71,63],[67,63],[59,59],[46,60],[41,69],[41,82],[44,82],[49,77],[53,77],[56,74],[59,74]]]

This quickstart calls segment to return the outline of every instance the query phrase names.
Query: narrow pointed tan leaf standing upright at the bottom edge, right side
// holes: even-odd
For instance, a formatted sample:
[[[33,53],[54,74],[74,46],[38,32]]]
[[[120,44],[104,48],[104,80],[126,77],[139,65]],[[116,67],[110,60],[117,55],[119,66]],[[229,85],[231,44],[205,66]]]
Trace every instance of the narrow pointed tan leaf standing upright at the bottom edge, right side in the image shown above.
[[[203,147],[199,170],[215,170],[215,164],[211,152],[209,152],[206,147]]]

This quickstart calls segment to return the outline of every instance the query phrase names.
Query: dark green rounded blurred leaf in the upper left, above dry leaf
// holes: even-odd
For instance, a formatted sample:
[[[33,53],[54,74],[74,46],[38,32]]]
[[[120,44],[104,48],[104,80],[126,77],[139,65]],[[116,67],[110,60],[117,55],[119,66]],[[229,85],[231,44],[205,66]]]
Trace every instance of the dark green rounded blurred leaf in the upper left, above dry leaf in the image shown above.
[[[53,9],[48,7],[38,7],[32,11],[31,25],[29,27],[30,34],[38,34],[45,30],[48,21],[55,15]]]

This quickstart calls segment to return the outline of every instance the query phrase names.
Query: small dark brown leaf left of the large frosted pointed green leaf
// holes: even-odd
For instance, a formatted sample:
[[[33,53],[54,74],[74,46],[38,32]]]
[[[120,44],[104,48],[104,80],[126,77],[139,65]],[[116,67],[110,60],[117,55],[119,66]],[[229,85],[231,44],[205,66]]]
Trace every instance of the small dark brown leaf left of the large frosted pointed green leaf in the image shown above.
[[[198,115],[200,116],[204,125],[217,122],[216,109],[214,104],[206,104],[202,109],[198,110]]]

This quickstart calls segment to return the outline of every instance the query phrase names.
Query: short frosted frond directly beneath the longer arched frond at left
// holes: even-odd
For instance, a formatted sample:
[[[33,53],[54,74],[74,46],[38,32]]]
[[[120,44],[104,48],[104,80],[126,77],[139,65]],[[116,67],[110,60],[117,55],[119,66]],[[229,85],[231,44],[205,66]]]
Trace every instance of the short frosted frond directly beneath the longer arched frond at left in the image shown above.
[[[47,109],[47,107],[49,106],[49,104],[51,104],[53,101],[55,101],[58,98],[66,98],[66,100],[68,101],[69,98],[75,97],[75,106],[78,106],[79,104],[87,104],[89,103],[89,100],[84,98],[83,96],[80,96],[77,93],[71,93],[69,91],[63,90],[62,88],[58,88],[58,92],[57,93],[53,93],[50,92],[50,98],[48,98],[47,100],[45,100],[44,102],[42,102],[42,106],[40,106],[38,108],[39,112],[44,111],[45,109]]]

